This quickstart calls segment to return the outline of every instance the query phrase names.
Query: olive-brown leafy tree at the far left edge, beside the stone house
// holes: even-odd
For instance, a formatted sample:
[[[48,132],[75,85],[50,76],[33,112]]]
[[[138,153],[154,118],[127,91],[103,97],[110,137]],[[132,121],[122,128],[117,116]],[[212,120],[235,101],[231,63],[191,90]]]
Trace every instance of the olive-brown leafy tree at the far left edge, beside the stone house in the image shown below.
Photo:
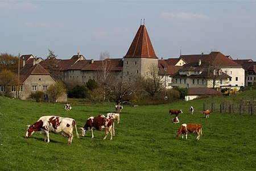
[[[18,85],[18,76],[10,70],[2,70],[0,72],[0,84],[3,85],[3,89],[5,90],[2,95],[11,97],[11,86],[15,86],[16,88]]]

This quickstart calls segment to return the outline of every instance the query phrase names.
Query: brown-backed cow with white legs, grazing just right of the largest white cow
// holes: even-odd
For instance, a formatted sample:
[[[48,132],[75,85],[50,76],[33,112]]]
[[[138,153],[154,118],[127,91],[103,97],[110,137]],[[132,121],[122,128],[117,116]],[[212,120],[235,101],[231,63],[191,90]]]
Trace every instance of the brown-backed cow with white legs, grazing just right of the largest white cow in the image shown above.
[[[112,140],[113,134],[114,134],[113,124],[114,124],[114,119],[112,118],[112,116],[107,116],[107,117],[105,117],[104,115],[98,115],[96,117],[91,116],[86,120],[84,127],[81,127],[80,130],[82,132],[82,136],[85,136],[85,132],[90,130],[90,132],[92,132],[92,138],[94,138],[93,130],[103,130],[105,128],[106,134],[103,139],[105,140],[106,137],[108,137],[108,134],[110,132],[110,135],[111,135],[110,140]]]

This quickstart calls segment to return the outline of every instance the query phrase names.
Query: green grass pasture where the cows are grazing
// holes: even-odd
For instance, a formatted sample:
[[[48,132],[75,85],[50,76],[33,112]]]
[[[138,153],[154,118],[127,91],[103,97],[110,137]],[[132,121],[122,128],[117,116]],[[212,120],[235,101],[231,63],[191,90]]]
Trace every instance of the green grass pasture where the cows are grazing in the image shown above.
[[[256,94],[256,91],[243,94]],[[211,101],[222,101],[214,98]],[[225,97],[225,100],[233,97]],[[89,116],[114,111],[114,103],[72,105],[36,103],[0,97],[0,170],[256,170],[256,116],[220,114],[209,119],[201,114],[203,102],[177,102],[164,105],[124,106],[115,136],[103,140],[104,131],[90,132],[80,140],[50,133],[50,143],[43,135],[24,138],[26,125],[43,115],[76,119],[82,127]],[[189,106],[195,114],[189,114]],[[182,109],[180,123],[171,123],[168,110]],[[203,135],[175,138],[182,123],[203,124]]]

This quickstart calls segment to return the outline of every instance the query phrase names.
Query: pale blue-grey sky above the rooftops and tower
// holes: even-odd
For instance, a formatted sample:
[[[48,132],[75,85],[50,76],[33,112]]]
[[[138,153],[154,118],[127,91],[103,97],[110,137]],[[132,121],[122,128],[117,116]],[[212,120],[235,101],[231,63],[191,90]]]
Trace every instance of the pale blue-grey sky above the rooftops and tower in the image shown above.
[[[0,0],[0,53],[126,55],[141,25],[159,59],[218,51],[256,61],[256,1]]]

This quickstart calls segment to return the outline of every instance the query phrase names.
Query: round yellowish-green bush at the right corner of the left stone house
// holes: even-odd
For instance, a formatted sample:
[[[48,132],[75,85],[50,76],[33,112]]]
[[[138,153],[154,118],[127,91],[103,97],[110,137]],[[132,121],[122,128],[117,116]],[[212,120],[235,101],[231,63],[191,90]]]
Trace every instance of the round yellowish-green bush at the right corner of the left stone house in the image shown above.
[[[46,92],[49,94],[49,98],[56,102],[63,93],[66,93],[66,89],[63,82],[57,81],[56,84],[50,85]]]

